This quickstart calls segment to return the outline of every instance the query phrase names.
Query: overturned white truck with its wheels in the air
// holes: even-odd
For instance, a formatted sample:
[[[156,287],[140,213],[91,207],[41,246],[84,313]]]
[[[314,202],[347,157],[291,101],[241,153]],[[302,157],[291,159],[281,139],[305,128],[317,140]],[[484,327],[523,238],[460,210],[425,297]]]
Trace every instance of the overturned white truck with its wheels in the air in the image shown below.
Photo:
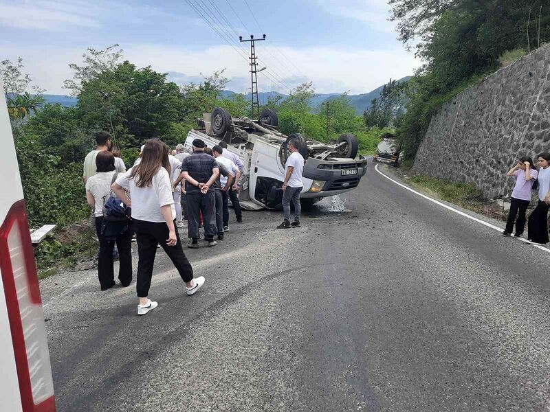
[[[366,173],[366,159],[357,157],[355,136],[342,135],[336,144],[325,144],[305,139],[300,133],[283,135],[277,124],[276,113],[269,109],[263,110],[256,122],[248,117],[234,118],[223,108],[214,108],[211,114],[198,119],[199,127],[188,133],[184,146],[191,151],[194,139],[202,139],[210,148],[220,141],[228,144],[225,150],[239,156],[244,164],[239,192],[243,209],[281,209],[290,139],[298,139],[299,152],[305,159],[304,188],[300,194],[303,206],[359,185]]]

